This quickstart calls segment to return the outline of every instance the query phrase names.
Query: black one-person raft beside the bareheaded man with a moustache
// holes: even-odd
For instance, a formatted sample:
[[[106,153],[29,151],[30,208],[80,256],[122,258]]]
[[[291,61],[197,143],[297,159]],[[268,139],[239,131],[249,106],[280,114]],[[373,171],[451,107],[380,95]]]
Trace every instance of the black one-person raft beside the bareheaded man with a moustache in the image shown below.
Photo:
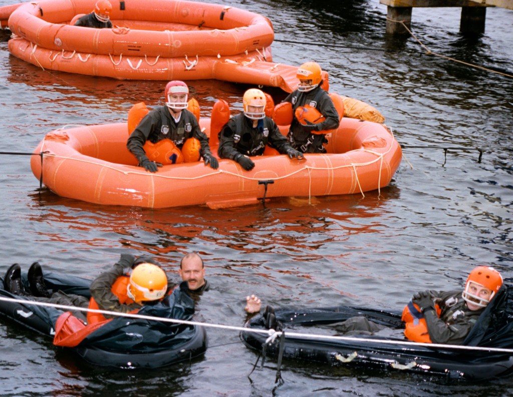
[[[45,273],[45,283],[49,290],[90,297],[90,280]],[[0,301],[0,316],[53,339],[55,322],[63,310],[33,305],[25,297],[3,289],[0,289],[0,296],[27,301],[23,304]],[[193,313],[192,299],[176,289],[161,303],[145,306],[137,314],[190,321]],[[132,369],[157,368],[190,360],[202,355],[206,348],[207,336],[203,327],[115,317],[69,349],[94,365]]]

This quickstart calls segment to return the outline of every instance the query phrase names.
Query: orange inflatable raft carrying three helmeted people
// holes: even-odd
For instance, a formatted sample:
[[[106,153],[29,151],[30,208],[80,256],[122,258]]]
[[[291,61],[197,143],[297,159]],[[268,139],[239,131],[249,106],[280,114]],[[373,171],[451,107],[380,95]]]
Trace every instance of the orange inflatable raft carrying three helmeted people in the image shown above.
[[[210,119],[202,118],[200,126],[208,135]],[[227,208],[257,203],[264,193],[308,197],[379,189],[389,184],[401,162],[399,143],[381,124],[343,117],[327,137],[326,154],[305,154],[305,160],[252,157],[251,171],[223,159],[217,170],[199,161],[150,173],[137,167],[126,148],[127,123],[63,128],[48,133],[37,146],[34,153],[46,152],[43,165],[39,156],[32,156],[31,168],[38,179],[43,172],[43,183],[55,194],[90,203]]]

